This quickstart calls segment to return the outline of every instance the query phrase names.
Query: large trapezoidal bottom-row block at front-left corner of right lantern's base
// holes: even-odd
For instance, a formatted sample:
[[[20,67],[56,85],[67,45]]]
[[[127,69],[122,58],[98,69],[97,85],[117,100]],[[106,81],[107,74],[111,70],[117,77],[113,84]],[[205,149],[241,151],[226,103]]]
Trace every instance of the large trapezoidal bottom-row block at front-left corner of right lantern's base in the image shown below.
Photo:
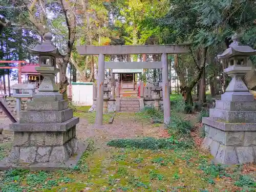
[[[216,160],[223,164],[238,164],[238,156],[233,146],[220,145]]]

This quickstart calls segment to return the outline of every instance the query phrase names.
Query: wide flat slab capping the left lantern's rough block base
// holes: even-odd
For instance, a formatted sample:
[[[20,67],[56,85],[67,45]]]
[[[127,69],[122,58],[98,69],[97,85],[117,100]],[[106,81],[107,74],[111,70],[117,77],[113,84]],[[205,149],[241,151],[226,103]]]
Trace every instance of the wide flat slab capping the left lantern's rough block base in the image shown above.
[[[15,132],[55,132],[67,131],[79,123],[79,117],[73,117],[62,123],[12,123],[10,130]]]

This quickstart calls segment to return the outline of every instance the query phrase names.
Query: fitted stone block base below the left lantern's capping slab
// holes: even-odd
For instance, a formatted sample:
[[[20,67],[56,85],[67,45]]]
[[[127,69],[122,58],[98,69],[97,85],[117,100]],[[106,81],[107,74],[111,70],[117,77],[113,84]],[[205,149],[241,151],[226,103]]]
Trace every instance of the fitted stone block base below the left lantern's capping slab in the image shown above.
[[[9,162],[63,163],[77,153],[76,127],[65,132],[14,132]]]

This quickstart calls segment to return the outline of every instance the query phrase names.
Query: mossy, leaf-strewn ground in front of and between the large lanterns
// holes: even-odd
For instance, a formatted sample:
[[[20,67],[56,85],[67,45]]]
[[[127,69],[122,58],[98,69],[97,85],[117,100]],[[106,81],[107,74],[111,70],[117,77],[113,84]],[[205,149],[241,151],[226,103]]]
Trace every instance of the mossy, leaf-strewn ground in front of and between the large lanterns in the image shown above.
[[[75,112],[81,120],[93,124],[94,113]],[[104,123],[112,114],[104,115]],[[175,115],[189,119],[196,124],[196,115]],[[156,115],[161,119],[161,116]],[[119,113],[115,121],[125,118],[131,123],[140,124],[140,129],[163,129],[145,113]],[[136,120],[136,121],[134,121]],[[130,127],[124,127],[130,129]],[[79,131],[79,130],[78,130]],[[115,130],[113,130],[114,132]],[[163,130],[166,131],[166,130]],[[195,129],[193,130],[195,132]],[[176,133],[176,132],[175,132]],[[197,132],[196,132],[197,133]],[[169,133],[165,137],[172,138]],[[79,133],[77,133],[79,137]],[[195,135],[195,134],[194,134]],[[138,138],[142,138],[139,135]],[[152,135],[157,138],[156,135]],[[127,135],[126,138],[130,138]],[[159,138],[159,137],[158,137]],[[172,138],[173,139],[173,138]],[[97,139],[90,142],[79,164],[72,169],[54,172],[13,169],[0,174],[0,191],[255,191],[256,168],[254,165],[222,166],[212,164],[212,157],[198,147],[166,147],[159,149],[139,149],[129,147],[104,147]],[[176,141],[172,140],[174,146]],[[177,142],[181,142],[180,140]],[[102,143],[102,141],[100,142]],[[143,143],[142,143],[143,144]],[[0,145],[0,159],[8,155],[10,144]]]

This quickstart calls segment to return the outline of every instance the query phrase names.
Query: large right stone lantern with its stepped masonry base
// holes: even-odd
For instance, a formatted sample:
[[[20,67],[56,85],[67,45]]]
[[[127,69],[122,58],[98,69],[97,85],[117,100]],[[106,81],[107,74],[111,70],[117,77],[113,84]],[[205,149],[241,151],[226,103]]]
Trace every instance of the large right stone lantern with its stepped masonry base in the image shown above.
[[[249,93],[243,76],[251,70],[248,57],[256,50],[243,46],[238,35],[232,36],[229,48],[218,55],[228,60],[224,70],[232,77],[210,117],[204,117],[205,135],[202,147],[208,149],[217,162],[243,164],[256,162],[256,101]]]

